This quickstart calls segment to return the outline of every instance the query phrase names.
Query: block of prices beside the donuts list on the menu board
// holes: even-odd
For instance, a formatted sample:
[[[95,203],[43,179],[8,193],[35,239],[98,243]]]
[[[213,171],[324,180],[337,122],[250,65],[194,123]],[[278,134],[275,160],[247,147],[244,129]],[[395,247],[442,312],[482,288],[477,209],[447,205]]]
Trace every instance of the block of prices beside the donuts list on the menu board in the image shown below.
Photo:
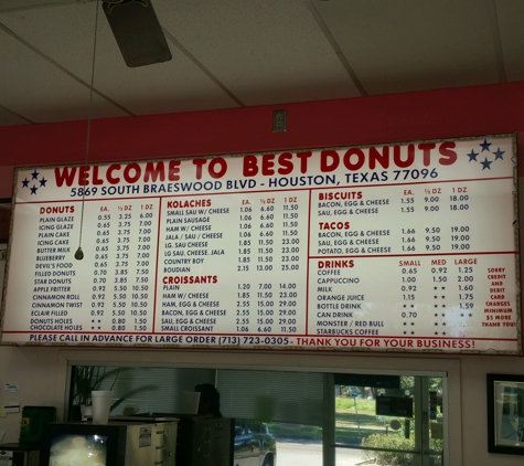
[[[158,208],[140,200],[89,202],[97,222],[86,231],[86,251],[94,251],[90,330],[151,331]],[[148,222],[145,206],[149,205]],[[153,226],[154,225],[154,226]]]

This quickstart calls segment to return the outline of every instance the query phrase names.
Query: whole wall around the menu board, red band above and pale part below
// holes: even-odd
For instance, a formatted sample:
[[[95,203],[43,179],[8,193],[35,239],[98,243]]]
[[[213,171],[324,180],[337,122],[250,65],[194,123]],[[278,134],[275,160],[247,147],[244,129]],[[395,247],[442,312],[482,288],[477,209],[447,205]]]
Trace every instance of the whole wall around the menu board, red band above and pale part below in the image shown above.
[[[271,133],[276,108],[288,110],[288,131]],[[89,161],[245,153],[488,134],[524,133],[524,83],[443,89],[93,123]],[[0,127],[0,198],[11,197],[14,166],[82,163],[86,123]],[[518,153],[524,153],[518,138]],[[524,163],[520,168],[524,174]],[[521,190],[522,192],[522,190]],[[522,205],[522,203],[521,203]],[[449,374],[451,465],[516,466],[522,457],[486,453],[485,374],[524,373],[517,357],[229,353],[64,350],[0,347],[4,382],[21,382],[10,399],[63,410],[67,361],[173,363],[185,367],[279,367],[293,370],[436,370]],[[0,400],[1,401],[1,400]],[[0,417],[4,441],[19,432],[19,414]]]

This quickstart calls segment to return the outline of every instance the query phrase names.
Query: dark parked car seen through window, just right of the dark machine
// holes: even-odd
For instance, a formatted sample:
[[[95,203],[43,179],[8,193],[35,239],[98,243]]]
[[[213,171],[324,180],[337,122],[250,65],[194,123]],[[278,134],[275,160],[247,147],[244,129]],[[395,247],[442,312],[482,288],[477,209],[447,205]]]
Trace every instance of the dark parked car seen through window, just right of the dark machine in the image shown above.
[[[235,422],[233,466],[277,466],[277,442],[264,422]]]

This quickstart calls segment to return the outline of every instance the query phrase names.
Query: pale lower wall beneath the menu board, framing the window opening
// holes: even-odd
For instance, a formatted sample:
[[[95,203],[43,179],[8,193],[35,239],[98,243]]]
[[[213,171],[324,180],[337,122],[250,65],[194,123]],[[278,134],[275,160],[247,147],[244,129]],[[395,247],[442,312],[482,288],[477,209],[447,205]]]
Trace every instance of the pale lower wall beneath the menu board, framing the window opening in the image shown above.
[[[453,466],[520,466],[522,457],[486,453],[485,374],[524,373],[521,359],[510,357],[427,357],[372,354],[300,353],[207,353],[202,351],[115,351],[60,348],[0,347],[0,386],[20,382],[20,394],[3,398],[24,405],[55,405],[64,412],[67,362],[173,364],[175,367],[220,367],[237,369],[284,369],[311,371],[447,372],[449,378],[450,449]],[[17,442],[21,414],[0,417],[3,442]]]

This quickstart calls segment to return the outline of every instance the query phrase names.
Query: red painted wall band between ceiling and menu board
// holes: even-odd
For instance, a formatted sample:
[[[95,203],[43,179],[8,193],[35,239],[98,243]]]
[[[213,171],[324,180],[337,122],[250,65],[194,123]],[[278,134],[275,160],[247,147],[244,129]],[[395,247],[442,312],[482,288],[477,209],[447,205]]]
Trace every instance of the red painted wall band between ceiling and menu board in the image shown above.
[[[287,133],[272,112],[287,109]],[[524,131],[524,83],[94,120],[89,162],[256,153]],[[83,163],[87,123],[0,127],[0,198],[13,167]],[[520,141],[520,148],[524,142]],[[520,169],[524,173],[524,168]]]

